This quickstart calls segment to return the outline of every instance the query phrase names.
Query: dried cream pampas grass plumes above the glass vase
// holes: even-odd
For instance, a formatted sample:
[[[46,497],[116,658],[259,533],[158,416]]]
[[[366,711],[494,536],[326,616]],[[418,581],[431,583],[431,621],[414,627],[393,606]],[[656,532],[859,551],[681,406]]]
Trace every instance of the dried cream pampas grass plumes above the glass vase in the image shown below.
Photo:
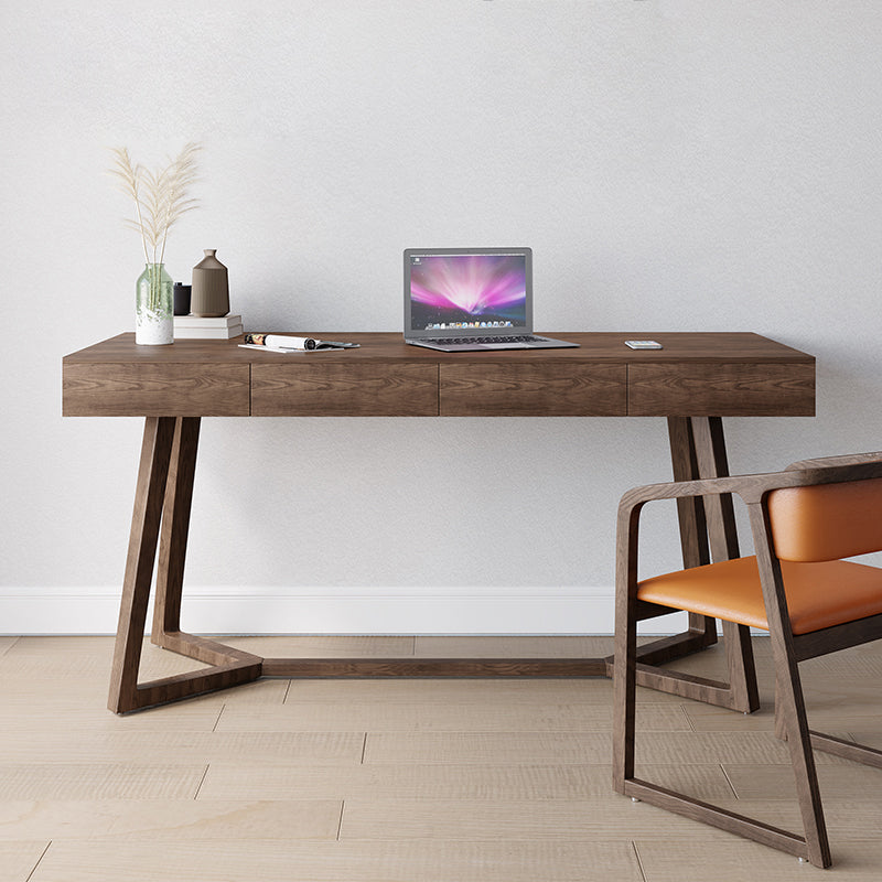
[[[109,171],[119,189],[135,201],[137,219],[128,218],[125,224],[140,234],[147,263],[164,262],[169,230],[197,205],[189,189],[196,180],[200,150],[201,144],[191,141],[184,144],[178,159],[170,159],[164,169],[155,171],[133,164],[125,147],[110,151],[115,162]]]

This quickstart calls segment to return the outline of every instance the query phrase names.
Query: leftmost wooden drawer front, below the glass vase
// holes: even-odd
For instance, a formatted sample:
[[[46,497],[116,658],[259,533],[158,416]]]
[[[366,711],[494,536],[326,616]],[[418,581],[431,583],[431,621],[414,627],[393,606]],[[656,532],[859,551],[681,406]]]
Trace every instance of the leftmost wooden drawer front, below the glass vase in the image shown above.
[[[65,417],[247,417],[247,364],[65,364]]]

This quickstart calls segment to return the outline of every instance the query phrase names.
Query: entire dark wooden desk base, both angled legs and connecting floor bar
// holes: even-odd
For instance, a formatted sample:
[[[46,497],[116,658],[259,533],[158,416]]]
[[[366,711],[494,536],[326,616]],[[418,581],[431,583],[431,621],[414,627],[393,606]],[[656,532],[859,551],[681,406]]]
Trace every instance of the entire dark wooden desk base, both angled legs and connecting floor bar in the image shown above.
[[[727,474],[719,418],[670,418],[675,477]],[[135,495],[129,552],[114,655],[109,708],[116,713],[164,704],[181,698],[250,682],[261,676],[287,677],[590,677],[612,673],[612,659],[262,659],[181,631],[181,595],[193,497],[200,420],[148,417]],[[698,499],[679,512],[684,560],[706,563],[738,555],[731,499]],[[710,537],[710,542],[708,541]],[[207,668],[138,682],[153,564],[159,572],[152,639]],[[689,631],[639,649],[637,681],[663,691],[738,710],[755,710],[756,684],[747,628],[724,632],[729,684],[655,667],[717,641],[716,622],[692,617]]]

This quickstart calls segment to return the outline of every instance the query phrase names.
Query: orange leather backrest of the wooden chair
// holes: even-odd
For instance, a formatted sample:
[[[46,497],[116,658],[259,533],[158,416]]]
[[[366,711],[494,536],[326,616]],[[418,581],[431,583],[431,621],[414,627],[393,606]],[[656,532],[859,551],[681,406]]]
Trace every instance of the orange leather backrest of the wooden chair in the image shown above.
[[[879,551],[882,478],[773,490],[768,515],[782,560],[838,560]]]

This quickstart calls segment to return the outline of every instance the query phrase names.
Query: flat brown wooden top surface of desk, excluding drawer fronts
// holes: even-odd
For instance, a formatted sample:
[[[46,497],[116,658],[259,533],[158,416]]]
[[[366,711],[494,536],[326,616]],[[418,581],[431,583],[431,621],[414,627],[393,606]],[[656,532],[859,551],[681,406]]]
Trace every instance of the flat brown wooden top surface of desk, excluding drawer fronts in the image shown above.
[[[284,333],[284,332],[278,332]],[[443,353],[409,346],[400,333],[304,332],[319,340],[358,343],[357,349],[337,349],[282,355],[241,348],[241,337],[233,340],[179,340],[170,346],[138,346],[135,334],[119,334],[65,356],[66,364],[223,362],[229,364],[295,364],[298,362],[396,361],[448,364],[499,364],[530,362],[603,362],[607,364],[668,364],[673,362],[754,362],[814,364],[807,353],[750,332],[544,332],[547,336],[571,341],[579,348],[506,349]],[[662,349],[631,349],[626,340],[657,340]]]

